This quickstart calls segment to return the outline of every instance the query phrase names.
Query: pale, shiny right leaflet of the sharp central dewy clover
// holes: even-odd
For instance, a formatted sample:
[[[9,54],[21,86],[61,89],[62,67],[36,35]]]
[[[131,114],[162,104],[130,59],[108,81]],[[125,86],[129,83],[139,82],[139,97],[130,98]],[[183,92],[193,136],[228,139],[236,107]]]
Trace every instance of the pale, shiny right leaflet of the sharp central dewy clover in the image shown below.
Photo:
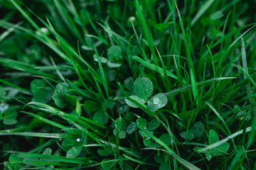
[[[164,108],[166,106],[168,99],[165,94],[156,94],[150,98],[148,102],[149,110],[151,112],[157,111],[159,108]]]

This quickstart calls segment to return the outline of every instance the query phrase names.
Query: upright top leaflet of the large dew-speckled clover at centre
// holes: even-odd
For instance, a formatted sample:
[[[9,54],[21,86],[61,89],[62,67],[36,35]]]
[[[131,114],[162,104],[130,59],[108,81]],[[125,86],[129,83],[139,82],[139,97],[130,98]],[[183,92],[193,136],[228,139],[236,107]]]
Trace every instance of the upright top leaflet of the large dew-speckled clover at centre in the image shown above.
[[[147,100],[153,92],[153,84],[150,79],[146,77],[138,78],[134,81],[134,93]]]

